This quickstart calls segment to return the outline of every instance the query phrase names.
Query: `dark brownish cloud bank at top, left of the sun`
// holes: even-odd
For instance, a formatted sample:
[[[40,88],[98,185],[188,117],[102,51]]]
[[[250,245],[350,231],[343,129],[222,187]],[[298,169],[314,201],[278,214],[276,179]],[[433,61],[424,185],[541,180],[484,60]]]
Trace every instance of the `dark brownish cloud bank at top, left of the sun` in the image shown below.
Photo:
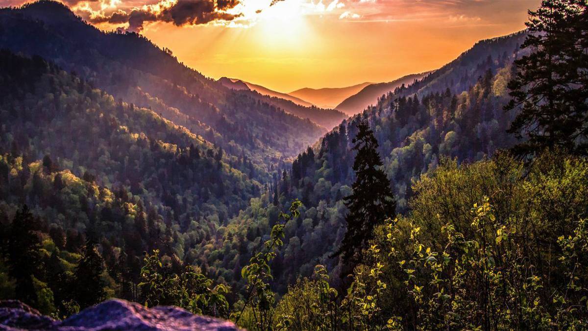
[[[234,8],[240,0],[178,0],[176,4],[160,12],[148,9],[133,9],[129,14],[124,11],[113,12],[110,16],[93,16],[93,23],[109,22],[112,24],[128,23],[129,31],[139,32],[145,22],[171,22],[181,25],[206,24],[212,21],[232,21],[241,14],[229,14],[226,9]]]

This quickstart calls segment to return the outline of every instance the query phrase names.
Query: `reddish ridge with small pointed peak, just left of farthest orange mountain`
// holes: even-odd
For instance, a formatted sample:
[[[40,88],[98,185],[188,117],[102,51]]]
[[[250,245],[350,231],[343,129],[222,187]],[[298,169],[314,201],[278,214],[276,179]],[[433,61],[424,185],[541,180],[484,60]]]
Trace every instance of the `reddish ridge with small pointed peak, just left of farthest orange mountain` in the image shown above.
[[[258,94],[258,98],[281,108],[292,115],[300,118],[308,118],[313,123],[325,129],[332,129],[345,120],[348,116],[343,112],[333,109],[319,108],[309,102],[291,97],[288,94],[275,92],[260,85],[251,84],[234,78],[221,77],[218,82],[223,86],[235,91],[251,91]]]

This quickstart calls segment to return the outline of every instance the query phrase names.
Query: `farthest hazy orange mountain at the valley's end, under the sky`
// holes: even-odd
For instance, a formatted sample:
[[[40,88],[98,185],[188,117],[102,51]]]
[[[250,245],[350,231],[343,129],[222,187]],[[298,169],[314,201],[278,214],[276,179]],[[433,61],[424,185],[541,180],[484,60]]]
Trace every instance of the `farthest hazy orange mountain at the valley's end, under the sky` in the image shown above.
[[[369,84],[372,83],[364,82],[349,87],[336,88],[301,88],[300,90],[292,91],[288,94],[292,95],[292,97],[312,102],[312,104],[319,107],[336,109],[336,105],[341,101],[361,91],[362,88]]]

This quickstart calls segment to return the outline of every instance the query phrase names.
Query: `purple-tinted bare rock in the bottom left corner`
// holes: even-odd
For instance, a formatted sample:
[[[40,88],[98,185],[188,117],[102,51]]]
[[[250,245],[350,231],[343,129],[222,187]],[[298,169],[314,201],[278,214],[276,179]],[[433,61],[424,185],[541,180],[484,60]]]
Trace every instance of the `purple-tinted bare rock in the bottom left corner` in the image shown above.
[[[234,323],[193,315],[178,307],[151,309],[120,299],[105,301],[63,321],[42,316],[18,301],[0,302],[0,330],[44,329],[59,331],[98,330],[239,330]]]

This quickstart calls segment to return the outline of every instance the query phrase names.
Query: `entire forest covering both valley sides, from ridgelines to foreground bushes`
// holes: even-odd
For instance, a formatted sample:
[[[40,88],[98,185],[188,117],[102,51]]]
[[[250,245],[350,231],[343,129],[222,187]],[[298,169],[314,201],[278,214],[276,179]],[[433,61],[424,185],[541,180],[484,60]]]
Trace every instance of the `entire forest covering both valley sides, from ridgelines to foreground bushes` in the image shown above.
[[[0,299],[588,328],[588,4],[526,24],[330,128],[57,2],[0,9]]]

